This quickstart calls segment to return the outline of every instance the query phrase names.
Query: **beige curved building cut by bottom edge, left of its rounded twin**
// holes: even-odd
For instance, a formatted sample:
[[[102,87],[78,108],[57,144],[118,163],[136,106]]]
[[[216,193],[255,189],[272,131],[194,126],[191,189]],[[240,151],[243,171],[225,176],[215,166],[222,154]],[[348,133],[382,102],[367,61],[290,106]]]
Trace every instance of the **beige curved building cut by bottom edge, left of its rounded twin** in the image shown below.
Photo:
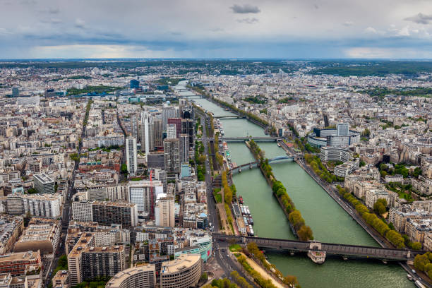
[[[153,288],[156,287],[155,265],[142,265],[123,270],[112,277],[107,288]]]

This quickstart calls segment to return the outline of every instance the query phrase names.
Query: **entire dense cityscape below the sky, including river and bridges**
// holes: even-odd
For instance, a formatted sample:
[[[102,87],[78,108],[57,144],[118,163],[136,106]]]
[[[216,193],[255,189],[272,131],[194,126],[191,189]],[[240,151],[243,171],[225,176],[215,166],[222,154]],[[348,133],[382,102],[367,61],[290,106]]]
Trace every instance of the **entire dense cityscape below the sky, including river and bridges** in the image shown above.
[[[431,96],[427,61],[2,61],[0,282],[431,287]]]

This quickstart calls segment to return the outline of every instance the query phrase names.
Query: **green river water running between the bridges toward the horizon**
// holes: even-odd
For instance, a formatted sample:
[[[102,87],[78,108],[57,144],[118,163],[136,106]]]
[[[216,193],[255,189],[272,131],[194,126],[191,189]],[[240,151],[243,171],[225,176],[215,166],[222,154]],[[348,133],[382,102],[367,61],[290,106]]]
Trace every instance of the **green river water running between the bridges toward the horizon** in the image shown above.
[[[179,86],[185,85],[184,82]],[[192,95],[181,92],[181,95]],[[216,116],[231,115],[221,107],[203,98],[193,101]],[[263,128],[246,119],[222,119],[226,137],[265,136]],[[276,143],[260,142],[260,148],[268,158],[284,155]],[[244,143],[228,143],[232,160],[237,164],[254,161]],[[272,164],[276,179],[282,181],[287,193],[300,210],[306,224],[313,230],[316,240],[330,243],[378,246],[359,224],[332,200],[311,176],[295,162]],[[234,175],[237,194],[243,196],[253,215],[253,230],[261,237],[295,239],[288,221],[272,196],[270,186],[259,169],[244,170]],[[284,275],[295,275],[303,288],[353,287],[353,288],[398,288],[414,287],[404,270],[397,264],[383,264],[373,260],[342,260],[327,258],[323,265],[316,265],[305,255],[290,256],[283,251],[267,251],[270,263]]]

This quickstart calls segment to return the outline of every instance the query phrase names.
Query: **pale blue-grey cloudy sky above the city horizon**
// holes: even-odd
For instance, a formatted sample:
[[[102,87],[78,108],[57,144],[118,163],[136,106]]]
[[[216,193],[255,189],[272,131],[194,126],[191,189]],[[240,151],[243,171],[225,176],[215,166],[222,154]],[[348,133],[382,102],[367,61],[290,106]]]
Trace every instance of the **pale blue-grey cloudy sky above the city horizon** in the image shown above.
[[[0,0],[0,59],[432,58],[432,0]]]

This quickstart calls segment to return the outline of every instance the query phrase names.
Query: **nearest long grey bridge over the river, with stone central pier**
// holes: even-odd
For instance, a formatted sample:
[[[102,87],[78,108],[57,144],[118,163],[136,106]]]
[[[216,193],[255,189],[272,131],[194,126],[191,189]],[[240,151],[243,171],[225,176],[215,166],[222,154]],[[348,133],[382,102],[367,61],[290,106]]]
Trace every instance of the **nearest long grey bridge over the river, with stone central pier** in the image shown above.
[[[357,246],[347,244],[320,243],[313,246],[313,241],[296,241],[286,239],[271,239],[251,236],[233,236],[225,234],[212,234],[217,241],[229,241],[237,244],[248,244],[254,242],[260,248],[276,248],[290,252],[325,251],[328,255],[341,256],[343,258],[371,258],[383,261],[407,261],[413,260],[416,254],[424,251],[413,251],[408,249],[378,248],[370,246]],[[318,242],[319,243],[319,242]]]

